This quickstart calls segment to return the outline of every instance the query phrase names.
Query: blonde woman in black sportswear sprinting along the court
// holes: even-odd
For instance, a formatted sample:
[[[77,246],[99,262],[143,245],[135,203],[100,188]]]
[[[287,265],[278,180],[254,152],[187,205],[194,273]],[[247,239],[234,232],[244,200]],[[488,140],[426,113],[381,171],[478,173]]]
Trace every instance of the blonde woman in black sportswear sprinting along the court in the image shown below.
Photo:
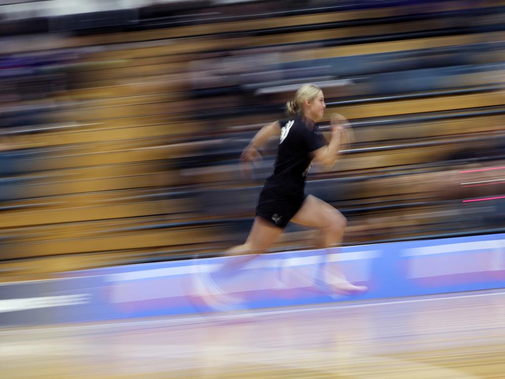
[[[342,243],[345,217],[326,202],[305,194],[305,183],[312,162],[332,167],[342,144],[342,136],[350,128],[343,116],[332,114],[331,139],[327,143],[317,125],[325,109],[323,91],[313,84],[302,85],[294,99],[286,103],[289,117],[265,125],[244,149],[240,160],[242,168],[247,170],[252,162],[261,157],[258,150],[266,141],[280,135],[274,172],[267,178],[260,194],[249,236],[243,245],[226,252],[228,256],[237,257],[210,276],[210,285],[215,289],[219,288],[217,282],[232,277],[245,263],[267,252],[290,221],[318,228],[318,249],[336,247]],[[349,283],[342,272],[330,270],[328,264],[322,267],[317,281],[323,283],[325,292],[352,295],[367,291],[364,286]]]

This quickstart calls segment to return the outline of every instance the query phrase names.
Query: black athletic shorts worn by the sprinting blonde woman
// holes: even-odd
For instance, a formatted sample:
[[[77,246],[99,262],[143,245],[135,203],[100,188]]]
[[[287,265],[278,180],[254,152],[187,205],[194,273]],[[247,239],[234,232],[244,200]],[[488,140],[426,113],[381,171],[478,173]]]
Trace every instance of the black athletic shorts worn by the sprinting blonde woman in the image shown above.
[[[264,218],[275,226],[285,228],[306,198],[304,194],[278,197],[262,192],[256,206],[256,216]]]

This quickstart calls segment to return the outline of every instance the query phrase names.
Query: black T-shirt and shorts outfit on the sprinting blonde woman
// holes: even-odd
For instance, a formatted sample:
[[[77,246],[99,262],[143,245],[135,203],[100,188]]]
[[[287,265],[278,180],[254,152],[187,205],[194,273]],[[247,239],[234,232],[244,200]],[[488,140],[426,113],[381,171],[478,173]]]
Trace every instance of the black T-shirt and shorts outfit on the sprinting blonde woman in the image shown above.
[[[326,145],[317,124],[311,128],[300,116],[280,120],[281,137],[274,173],[265,181],[256,215],[284,228],[305,200],[311,153]]]

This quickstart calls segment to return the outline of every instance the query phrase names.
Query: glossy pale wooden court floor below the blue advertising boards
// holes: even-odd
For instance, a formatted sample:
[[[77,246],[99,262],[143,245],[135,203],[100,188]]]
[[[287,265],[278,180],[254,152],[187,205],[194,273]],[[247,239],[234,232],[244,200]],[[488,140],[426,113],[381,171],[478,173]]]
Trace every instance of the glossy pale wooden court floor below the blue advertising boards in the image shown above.
[[[0,329],[7,378],[504,378],[505,292]]]

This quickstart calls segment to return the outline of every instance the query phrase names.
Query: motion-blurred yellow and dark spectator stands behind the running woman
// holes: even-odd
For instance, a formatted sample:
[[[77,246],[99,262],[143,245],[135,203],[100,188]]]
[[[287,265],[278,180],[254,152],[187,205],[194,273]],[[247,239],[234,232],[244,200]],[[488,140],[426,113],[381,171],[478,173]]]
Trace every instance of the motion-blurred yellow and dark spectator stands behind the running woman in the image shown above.
[[[303,83],[354,126],[307,184],[346,245],[505,227],[505,1],[1,4],[2,280],[242,243],[276,142],[238,158]]]

